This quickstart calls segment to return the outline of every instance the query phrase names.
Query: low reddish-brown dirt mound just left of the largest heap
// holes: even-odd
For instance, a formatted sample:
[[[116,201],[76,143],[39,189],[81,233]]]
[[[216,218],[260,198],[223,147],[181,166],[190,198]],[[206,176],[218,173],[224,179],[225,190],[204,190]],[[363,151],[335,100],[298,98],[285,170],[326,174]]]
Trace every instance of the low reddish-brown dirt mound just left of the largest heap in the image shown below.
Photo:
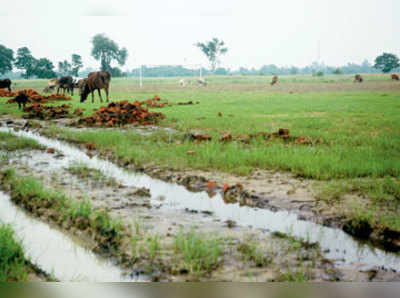
[[[40,120],[50,120],[65,118],[69,115],[71,106],[61,105],[55,107],[45,106],[40,103],[34,103],[29,107],[24,108],[24,112],[28,113],[23,117],[25,119],[40,119]]]

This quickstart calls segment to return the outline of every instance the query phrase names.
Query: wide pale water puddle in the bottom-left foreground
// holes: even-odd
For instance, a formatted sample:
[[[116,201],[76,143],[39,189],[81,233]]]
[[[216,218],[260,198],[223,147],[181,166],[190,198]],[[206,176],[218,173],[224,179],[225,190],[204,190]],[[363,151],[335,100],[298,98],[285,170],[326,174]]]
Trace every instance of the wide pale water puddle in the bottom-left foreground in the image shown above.
[[[57,229],[28,216],[0,192],[0,222],[11,224],[25,255],[60,281],[140,281],[124,275],[111,262],[100,259]]]

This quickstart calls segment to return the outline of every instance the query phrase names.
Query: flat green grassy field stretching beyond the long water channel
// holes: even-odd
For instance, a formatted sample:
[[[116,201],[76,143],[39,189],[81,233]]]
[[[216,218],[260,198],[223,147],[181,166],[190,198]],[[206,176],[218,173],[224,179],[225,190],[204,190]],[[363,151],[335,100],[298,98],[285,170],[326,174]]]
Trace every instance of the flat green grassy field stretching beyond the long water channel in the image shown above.
[[[162,101],[173,103],[150,109],[166,115],[159,126],[174,129],[172,133],[158,130],[143,135],[135,129],[94,131],[60,126],[47,128],[45,133],[92,142],[136,166],[202,171],[208,177],[224,173],[243,181],[253,179],[259,170],[295,174],[296,179],[313,185],[313,200],[322,204],[318,208],[352,223],[350,233],[357,234],[364,223],[373,230],[400,232],[399,82],[387,75],[365,75],[362,84],[353,83],[353,76],[348,75],[298,75],[282,76],[277,86],[271,86],[271,76],[216,76],[207,77],[207,87],[198,86],[193,78],[192,85],[186,79],[187,86],[182,88],[179,79],[145,78],[139,88],[137,78],[115,78],[110,88],[110,101],[141,101],[157,94]],[[15,83],[14,89],[39,92],[46,86],[45,80]],[[0,114],[23,115],[17,105],[6,101],[0,98]],[[199,104],[174,104],[188,101]],[[95,103],[90,95],[80,103],[75,90],[67,103],[85,109],[84,116],[90,116],[106,104],[105,94],[103,104],[97,93]],[[244,137],[279,128],[289,129],[293,140],[219,141],[227,133]],[[208,134],[212,140],[183,141],[187,133]],[[2,150],[31,146],[9,135],[0,137]],[[298,137],[308,143],[296,142]]]

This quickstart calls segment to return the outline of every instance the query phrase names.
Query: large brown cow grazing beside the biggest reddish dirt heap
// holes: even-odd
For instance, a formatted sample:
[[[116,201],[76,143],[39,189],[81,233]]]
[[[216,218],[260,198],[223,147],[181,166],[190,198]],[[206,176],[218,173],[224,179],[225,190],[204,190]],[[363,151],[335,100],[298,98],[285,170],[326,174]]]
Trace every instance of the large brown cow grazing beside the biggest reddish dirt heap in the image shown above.
[[[91,72],[88,78],[85,79],[85,82],[83,83],[83,86],[80,89],[81,102],[84,102],[87,99],[89,93],[92,93],[92,103],[93,103],[94,91],[96,89],[99,92],[100,102],[103,102],[100,90],[104,89],[106,91],[107,102],[108,102],[108,89],[110,87],[110,81],[111,81],[111,74],[108,71]]]

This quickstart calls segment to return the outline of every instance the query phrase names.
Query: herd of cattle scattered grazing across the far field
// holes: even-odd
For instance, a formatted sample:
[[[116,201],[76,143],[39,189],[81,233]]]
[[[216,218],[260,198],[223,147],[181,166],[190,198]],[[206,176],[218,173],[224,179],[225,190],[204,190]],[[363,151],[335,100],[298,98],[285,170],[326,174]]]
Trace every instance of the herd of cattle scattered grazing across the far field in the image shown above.
[[[392,74],[391,78],[393,81],[400,81],[400,78],[397,74]],[[278,76],[273,76],[271,85],[277,84],[278,80]],[[92,94],[92,102],[94,102],[94,91],[97,90],[99,93],[100,101],[103,102],[100,90],[104,89],[108,102],[110,81],[111,74],[108,71],[91,72],[89,73],[87,78],[73,78],[72,76],[64,76],[61,78],[48,80],[47,86],[43,89],[43,92],[49,93],[55,91],[55,89],[57,88],[57,94],[59,93],[60,89],[62,89],[63,93],[69,92],[73,96],[74,88],[77,88],[79,90],[81,102],[84,102],[90,93]],[[356,74],[354,76],[355,83],[362,83],[363,81],[364,78],[360,74]],[[12,82],[10,79],[0,80],[0,89],[7,88],[8,91],[11,92],[11,83]],[[191,81],[189,81],[189,83],[191,84]],[[199,80],[197,80],[197,83],[202,86],[207,86],[207,82],[204,78],[200,78]],[[179,81],[179,84],[184,87],[186,85],[186,82],[184,79],[181,79]]]

